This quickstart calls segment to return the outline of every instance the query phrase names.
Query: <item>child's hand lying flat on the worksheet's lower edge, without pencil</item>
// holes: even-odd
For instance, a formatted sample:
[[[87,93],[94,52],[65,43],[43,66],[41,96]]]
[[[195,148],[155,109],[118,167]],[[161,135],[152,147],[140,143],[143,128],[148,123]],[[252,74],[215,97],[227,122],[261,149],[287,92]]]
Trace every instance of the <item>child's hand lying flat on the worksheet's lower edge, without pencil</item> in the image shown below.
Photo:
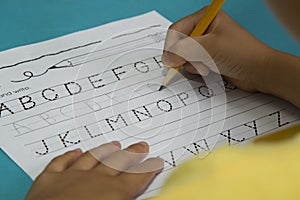
[[[160,173],[163,161],[150,158],[141,163],[149,152],[144,142],[120,148],[112,142],[84,154],[74,150],[56,157],[34,181],[26,200],[136,197]]]

